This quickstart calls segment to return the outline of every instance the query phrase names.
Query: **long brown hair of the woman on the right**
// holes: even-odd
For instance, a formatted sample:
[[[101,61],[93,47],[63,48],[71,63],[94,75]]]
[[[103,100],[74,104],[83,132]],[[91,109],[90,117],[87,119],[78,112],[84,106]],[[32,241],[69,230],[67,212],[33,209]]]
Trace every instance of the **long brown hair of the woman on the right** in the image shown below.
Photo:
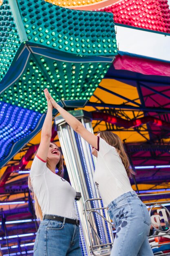
[[[132,174],[135,174],[132,168],[130,168],[130,162],[128,159],[128,156],[126,155],[126,152],[124,150],[123,143],[119,136],[113,132],[108,131],[102,131],[97,132],[100,134],[100,137],[104,139],[110,146],[113,146],[116,148],[117,153],[119,154],[121,161],[126,169],[126,173],[128,177],[130,177]]]

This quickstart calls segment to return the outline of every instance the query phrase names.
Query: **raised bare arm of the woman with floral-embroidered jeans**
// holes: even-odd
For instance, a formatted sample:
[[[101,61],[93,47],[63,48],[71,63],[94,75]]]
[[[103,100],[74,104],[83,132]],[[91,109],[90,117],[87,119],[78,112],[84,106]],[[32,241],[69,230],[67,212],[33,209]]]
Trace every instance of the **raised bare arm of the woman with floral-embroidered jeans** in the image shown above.
[[[51,97],[50,93],[47,92],[47,95],[53,105],[53,108],[56,108],[60,115],[66,120],[67,124],[73,128],[83,139],[85,139],[91,146],[97,149],[97,136],[89,132],[80,121],[68,113],[64,108],[60,107],[57,102]]]

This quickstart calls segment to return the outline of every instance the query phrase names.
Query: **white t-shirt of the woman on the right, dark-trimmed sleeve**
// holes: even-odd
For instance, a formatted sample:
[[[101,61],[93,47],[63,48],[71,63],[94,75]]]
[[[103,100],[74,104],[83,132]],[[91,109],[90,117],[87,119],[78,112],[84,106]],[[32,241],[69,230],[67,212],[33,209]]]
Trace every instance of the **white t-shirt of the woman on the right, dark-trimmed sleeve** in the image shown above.
[[[93,180],[105,206],[118,196],[132,191],[126,169],[117,153],[104,139],[98,137],[97,164]]]

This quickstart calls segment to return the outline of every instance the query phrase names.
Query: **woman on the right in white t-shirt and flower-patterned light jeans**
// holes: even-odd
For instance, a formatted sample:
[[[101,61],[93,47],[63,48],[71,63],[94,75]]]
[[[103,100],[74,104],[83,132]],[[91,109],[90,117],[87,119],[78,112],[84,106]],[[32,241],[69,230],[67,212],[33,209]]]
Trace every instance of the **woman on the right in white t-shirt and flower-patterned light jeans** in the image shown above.
[[[107,131],[95,136],[45,90],[53,107],[91,144],[92,154],[97,157],[93,180],[117,231],[110,256],[153,256],[147,237],[151,224],[149,212],[130,185],[128,177],[132,170],[121,139]]]

